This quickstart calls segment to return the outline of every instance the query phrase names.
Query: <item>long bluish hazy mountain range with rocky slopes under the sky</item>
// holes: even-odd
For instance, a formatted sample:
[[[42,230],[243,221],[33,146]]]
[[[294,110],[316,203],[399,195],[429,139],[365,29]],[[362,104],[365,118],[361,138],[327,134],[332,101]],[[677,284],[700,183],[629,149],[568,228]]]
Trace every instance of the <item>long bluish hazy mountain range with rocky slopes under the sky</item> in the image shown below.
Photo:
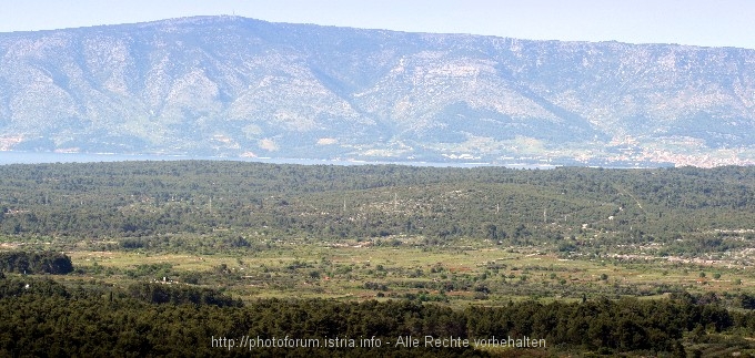
[[[0,150],[755,163],[755,50],[208,17],[0,34]]]

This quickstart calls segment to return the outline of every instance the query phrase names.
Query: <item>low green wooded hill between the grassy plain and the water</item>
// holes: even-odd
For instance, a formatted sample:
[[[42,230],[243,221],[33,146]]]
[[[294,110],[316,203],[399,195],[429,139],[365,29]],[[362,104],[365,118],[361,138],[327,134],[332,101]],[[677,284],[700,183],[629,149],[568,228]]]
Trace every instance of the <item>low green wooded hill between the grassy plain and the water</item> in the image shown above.
[[[117,238],[137,246],[171,246],[171,234],[180,233],[213,233],[231,246],[281,235],[396,245],[406,237],[435,245],[471,237],[565,248],[595,245],[600,237],[668,242],[682,250],[721,250],[755,236],[747,229],[755,227],[752,167],[523,171],[177,161],[6,165],[0,177],[0,231],[7,236]]]

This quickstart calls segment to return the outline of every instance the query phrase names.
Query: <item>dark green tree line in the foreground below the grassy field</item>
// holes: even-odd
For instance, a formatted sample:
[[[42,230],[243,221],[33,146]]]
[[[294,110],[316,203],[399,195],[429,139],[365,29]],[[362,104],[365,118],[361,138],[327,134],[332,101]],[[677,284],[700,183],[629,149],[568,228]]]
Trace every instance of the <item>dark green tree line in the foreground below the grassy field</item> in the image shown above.
[[[0,278],[0,356],[484,356],[471,348],[254,348],[228,350],[213,338],[371,338],[412,336],[545,339],[553,351],[644,355],[685,350],[682,341],[751,348],[736,335],[755,334],[753,311],[731,311],[704,297],[595,299],[583,303],[510,303],[463,310],[407,300],[341,303],[322,299],[261,299],[241,305],[220,293],[161,284],[66,288],[49,279]],[[185,290],[185,291],[184,291]],[[157,296],[153,296],[157,295]],[[168,295],[168,299],[157,298]],[[171,299],[170,296],[184,297]],[[214,297],[193,300],[192,296]],[[734,335],[734,336],[731,336]],[[323,344],[324,345],[324,344]],[[527,348],[531,354],[542,349]]]

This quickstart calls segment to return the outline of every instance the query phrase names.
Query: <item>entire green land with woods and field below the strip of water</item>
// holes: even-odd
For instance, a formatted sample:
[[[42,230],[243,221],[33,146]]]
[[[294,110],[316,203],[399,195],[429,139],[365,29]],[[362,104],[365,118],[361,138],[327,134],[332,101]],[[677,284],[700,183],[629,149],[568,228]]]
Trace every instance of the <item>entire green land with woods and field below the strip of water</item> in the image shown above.
[[[754,178],[753,167],[3,165],[0,355],[747,355]],[[211,340],[286,334],[548,345],[250,352]]]

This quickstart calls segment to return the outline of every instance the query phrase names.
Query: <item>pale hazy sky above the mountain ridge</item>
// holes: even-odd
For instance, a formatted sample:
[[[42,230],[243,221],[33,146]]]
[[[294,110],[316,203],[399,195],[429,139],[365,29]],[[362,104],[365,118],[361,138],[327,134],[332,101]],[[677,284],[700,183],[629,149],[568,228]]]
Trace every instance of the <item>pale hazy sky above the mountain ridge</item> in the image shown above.
[[[755,0],[10,0],[0,32],[234,13],[400,31],[755,49]]]

